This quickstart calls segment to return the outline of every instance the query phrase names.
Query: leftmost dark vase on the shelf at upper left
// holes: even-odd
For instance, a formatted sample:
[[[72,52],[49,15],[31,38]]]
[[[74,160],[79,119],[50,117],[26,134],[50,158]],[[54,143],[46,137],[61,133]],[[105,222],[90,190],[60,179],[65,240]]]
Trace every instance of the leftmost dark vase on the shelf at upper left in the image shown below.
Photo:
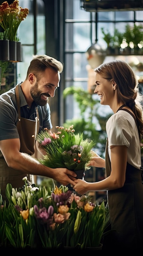
[[[0,40],[0,61],[9,61],[9,40]]]

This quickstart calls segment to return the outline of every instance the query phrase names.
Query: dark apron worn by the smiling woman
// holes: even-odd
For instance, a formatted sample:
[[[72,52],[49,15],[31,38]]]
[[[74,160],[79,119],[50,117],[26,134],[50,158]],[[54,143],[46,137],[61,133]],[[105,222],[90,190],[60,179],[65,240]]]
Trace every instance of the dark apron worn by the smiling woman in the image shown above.
[[[126,109],[123,109],[126,111]],[[129,112],[129,111],[127,111]],[[132,113],[130,112],[132,115]],[[132,115],[133,116],[133,115]],[[134,117],[134,116],[133,116]],[[111,163],[106,142],[106,177],[110,176]],[[141,170],[127,162],[125,184],[107,192],[112,233],[109,248],[138,249],[143,243],[143,184]]]

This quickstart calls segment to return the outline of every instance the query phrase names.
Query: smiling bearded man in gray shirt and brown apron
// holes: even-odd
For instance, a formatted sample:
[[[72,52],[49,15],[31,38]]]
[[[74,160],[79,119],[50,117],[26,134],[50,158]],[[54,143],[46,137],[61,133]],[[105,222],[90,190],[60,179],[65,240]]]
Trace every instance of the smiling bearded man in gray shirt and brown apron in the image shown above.
[[[29,182],[33,182],[32,175],[41,175],[63,185],[75,185],[73,171],[48,168],[31,157],[36,134],[44,128],[52,128],[48,97],[55,96],[62,71],[62,63],[55,58],[35,55],[25,81],[0,95],[0,189],[3,200],[7,200],[7,183],[22,187],[22,178],[26,175]],[[73,180],[68,175],[73,176]]]

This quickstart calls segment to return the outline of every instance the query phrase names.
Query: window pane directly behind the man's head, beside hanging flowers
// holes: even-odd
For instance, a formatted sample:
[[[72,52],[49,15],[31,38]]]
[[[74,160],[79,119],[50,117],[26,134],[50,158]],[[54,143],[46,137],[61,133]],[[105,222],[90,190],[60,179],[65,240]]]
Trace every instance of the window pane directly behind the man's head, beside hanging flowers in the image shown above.
[[[24,81],[33,54],[45,54],[45,8],[42,0],[19,0],[19,6],[29,14],[19,26],[23,61],[17,63],[17,81]],[[35,15],[34,15],[35,13]]]

